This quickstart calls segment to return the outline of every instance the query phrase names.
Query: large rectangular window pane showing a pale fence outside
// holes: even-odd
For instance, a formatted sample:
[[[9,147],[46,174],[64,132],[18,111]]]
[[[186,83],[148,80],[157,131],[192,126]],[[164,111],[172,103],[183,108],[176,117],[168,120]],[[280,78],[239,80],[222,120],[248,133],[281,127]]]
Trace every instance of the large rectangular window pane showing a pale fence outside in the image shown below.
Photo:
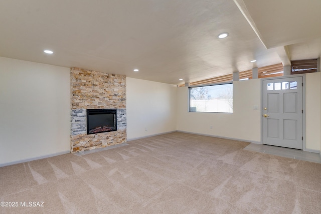
[[[190,112],[233,113],[233,84],[191,87]]]

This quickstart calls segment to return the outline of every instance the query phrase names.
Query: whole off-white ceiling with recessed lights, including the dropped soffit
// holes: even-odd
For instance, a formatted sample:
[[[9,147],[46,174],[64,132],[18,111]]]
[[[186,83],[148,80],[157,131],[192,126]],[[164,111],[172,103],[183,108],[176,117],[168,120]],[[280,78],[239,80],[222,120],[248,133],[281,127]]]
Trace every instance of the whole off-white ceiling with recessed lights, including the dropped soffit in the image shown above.
[[[320,57],[320,9],[320,0],[0,1],[0,56],[182,84]]]

